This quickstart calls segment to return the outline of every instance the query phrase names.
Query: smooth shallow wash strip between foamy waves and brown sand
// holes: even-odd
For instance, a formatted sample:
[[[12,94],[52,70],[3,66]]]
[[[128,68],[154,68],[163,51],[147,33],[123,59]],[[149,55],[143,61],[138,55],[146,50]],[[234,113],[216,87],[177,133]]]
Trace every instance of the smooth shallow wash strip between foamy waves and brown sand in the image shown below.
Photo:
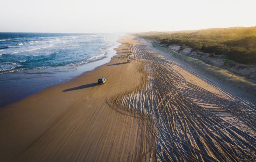
[[[94,70],[98,66],[101,66],[103,64],[110,62],[110,59],[114,55],[116,55],[116,51],[114,50],[114,48],[116,48],[119,45],[120,45],[119,43],[116,43],[106,48],[105,49],[106,52],[101,58],[76,65],[75,70],[65,71],[65,69],[67,69],[68,66],[60,66],[57,68],[60,68],[60,69],[63,68],[64,72],[56,72],[55,74],[54,73],[51,74],[52,72],[48,72],[48,73],[43,72],[42,74],[40,74],[39,72],[38,74],[34,74],[34,75],[37,75],[35,77],[38,77],[38,75],[40,75],[41,78],[38,80],[38,79],[34,79],[33,77],[30,79],[30,81],[27,84],[22,83],[26,79],[22,79],[22,81],[19,81],[19,80],[15,81],[14,83],[15,85],[11,85],[10,88],[6,87],[2,89],[2,94],[8,94],[8,96],[6,95],[2,96],[1,98],[2,100],[0,101],[0,108],[13,104],[15,102],[18,102],[20,100],[23,100],[24,98],[36,92],[40,92],[41,90],[43,90],[44,88],[47,88],[48,86],[54,86],[56,84],[61,84],[63,82],[72,80],[76,76],[82,75],[84,72]],[[17,75],[22,75],[22,74],[26,75],[26,73],[29,74],[30,70],[22,70],[22,71],[16,72]],[[1,75],[12,75],[12,74],[6,73]],[[43,80],[43,82],[41,80]],[[19,87],[15,88],[15,86],[19,86]]]

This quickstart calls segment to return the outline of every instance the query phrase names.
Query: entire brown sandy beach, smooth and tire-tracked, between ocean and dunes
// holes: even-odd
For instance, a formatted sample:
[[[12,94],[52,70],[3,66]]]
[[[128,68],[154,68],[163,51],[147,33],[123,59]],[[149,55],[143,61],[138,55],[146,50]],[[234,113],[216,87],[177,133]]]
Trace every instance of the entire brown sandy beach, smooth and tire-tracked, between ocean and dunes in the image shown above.
[[[0,162],[256,160],[253,103],[145,40],[120,42],[109,63],[1,108]]]

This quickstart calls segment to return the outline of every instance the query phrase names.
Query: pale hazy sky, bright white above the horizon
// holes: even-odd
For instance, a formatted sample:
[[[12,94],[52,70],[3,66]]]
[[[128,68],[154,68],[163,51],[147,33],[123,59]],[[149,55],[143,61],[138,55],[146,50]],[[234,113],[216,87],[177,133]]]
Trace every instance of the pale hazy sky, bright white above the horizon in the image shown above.
[[[256,26],[256,0],[0,0],[0,32],[114,33]]]

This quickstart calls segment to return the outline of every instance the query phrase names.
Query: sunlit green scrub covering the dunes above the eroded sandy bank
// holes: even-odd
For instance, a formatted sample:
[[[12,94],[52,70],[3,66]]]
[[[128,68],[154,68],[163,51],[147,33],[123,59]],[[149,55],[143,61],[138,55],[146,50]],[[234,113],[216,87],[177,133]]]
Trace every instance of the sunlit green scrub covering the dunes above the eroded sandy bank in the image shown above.
[[[179,44],[180,50],[189,46],[192,50],[200,50],[242,64],[256,64],[256,26],[210,28],[180,32],[150,32],[137,34],[140,37],[159,41],[169,46]]]

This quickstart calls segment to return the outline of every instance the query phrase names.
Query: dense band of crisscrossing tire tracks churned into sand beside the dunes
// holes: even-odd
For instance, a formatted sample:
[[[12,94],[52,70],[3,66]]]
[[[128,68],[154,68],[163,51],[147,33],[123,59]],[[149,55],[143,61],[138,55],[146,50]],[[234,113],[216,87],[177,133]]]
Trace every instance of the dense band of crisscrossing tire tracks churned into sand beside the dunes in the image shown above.
[[[237,127],[242,125],[256,134],[255,105],[155,52],[157,50],[148,44],[145,47],[131,39],[126,46],[123,53],[127,55],[119,59],[136,61],[142,84],[131,92],[106,98],[106,103],[116,112],[150,121],[146,127],[148,132],[144,132],[154,136],[154,142],[147,141],[156,152],[151,159],[173,162],[255,159],[255,138],[244,132],[246,129]],[[133,56],[128,54],[129,50]],[[188,82],[186,76],[176,70],[179,68],[218,94]]]

